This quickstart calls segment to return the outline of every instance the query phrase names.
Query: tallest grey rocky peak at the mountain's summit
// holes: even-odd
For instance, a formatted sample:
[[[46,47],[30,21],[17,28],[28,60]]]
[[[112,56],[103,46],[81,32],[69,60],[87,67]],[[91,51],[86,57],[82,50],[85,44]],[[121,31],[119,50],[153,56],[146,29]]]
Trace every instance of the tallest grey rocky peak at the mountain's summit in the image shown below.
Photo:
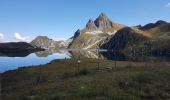
[[[94,23],[99,30],[107,30],[113,27],[113,22],[104,13],[101,13]]]

